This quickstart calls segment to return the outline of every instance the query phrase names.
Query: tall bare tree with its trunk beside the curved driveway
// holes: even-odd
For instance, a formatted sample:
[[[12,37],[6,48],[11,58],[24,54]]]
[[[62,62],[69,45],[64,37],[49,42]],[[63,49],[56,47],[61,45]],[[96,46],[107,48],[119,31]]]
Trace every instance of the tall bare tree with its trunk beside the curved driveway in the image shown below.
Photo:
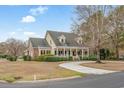
[[[91,41],[92,47],[96,48],[98,63],[101,63],[99,51],[104,37],[105,16],[111,10],[109,7],[104,5],[77,6],[75,12],[78,23],[80,23],[80,33],[83,33],[82,37],[85,36],[87,38],[90,36],[88,41]]]

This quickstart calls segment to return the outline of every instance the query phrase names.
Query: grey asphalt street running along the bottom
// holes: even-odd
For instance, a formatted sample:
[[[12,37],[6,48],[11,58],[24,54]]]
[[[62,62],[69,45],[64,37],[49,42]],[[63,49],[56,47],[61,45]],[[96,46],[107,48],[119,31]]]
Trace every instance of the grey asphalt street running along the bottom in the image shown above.
[[[84,78],[37,83],[0,83],[1,88],[121,88],[124,72],[88,75]]]

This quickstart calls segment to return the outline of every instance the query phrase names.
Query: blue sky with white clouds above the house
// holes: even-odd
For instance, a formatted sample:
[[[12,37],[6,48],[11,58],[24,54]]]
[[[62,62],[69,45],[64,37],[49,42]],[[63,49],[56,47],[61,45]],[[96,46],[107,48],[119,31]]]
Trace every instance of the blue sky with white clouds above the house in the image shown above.
[[[0,6],[0,42],[44,38],[47,30],[70,32],[74,6]]]

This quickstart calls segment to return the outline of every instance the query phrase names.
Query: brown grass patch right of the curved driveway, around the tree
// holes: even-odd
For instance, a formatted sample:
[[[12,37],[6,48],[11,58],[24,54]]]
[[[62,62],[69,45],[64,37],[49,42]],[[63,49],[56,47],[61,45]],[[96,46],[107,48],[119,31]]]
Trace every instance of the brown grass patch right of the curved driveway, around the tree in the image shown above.
[[[103,63],[83,63],[82,66],[105,70],[124,71],[124,61],[103,61]]]

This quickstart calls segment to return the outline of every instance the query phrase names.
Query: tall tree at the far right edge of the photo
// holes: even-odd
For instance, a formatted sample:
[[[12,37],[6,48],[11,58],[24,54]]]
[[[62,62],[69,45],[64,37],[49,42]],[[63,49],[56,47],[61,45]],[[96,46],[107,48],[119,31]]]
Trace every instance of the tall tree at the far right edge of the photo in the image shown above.
[[[106,18],[105,32],[115,49],[116,59],[119,59],[119,48],[124,45],[124,6],[118,6]]]

